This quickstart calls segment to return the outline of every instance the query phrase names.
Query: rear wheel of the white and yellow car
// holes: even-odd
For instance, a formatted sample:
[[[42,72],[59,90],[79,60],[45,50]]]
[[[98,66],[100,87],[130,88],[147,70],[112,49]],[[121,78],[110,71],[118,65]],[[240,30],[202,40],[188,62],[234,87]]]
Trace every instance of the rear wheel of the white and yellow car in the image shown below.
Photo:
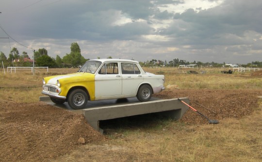
[[[149,85],[144,84],[139,87],[136,97],[141,102],[147,102],[152,97],[152,94],[152,88]]]

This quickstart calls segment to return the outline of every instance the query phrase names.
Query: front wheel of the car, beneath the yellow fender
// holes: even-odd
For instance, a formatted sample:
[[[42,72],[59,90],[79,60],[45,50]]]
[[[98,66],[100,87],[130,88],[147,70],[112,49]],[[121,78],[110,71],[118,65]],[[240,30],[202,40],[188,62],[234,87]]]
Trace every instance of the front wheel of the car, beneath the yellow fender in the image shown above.
[[[84,90],[75,89],[68,95],[67,103],[72,109],[79,110],[86,107],[87,100],[87,94]]]

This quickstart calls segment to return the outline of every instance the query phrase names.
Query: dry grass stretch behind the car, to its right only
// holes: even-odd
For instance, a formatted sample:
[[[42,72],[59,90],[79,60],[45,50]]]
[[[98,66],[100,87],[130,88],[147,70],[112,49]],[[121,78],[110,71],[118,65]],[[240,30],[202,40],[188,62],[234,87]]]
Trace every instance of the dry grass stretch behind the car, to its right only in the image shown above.
[[[190,74],[187,71],[196,70],[199,74]],[[229,69],[178,69],[178,68],[145,68],[145,71],[165,75],[165,86],[178,85],[180,89],[254,89],[262,88],[260,78],[251,78],[251,72],[222,74]],[[201,74],[201,71],[206,71]]]

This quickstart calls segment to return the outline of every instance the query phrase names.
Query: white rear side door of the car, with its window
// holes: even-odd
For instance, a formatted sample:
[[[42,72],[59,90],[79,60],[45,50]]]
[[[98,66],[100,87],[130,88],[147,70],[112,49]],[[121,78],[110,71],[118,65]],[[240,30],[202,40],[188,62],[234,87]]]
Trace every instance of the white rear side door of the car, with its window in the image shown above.
[[[121,63],[122,95],[136,95],[137,88],[143,82],[143,75],[136,64]]]

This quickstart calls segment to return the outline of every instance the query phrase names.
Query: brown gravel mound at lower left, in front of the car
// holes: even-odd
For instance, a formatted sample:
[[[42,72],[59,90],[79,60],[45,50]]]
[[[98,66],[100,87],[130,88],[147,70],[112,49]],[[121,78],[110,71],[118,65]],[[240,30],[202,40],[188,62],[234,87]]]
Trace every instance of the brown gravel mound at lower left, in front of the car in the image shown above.
[[[0,100],[0,161],[43,161],[65,155],[82,143],[105,140],[82,114],[43,102]]]

